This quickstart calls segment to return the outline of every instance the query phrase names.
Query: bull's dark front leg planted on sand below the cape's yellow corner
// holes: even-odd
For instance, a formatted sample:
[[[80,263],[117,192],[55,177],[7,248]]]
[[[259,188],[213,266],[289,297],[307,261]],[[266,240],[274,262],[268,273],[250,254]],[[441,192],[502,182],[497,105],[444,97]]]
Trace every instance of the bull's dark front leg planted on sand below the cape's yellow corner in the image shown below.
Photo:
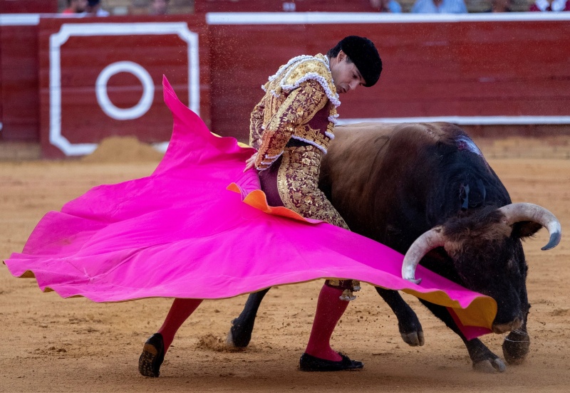
[[[451,317],[450,313],[447,311],[445,307],[440,305],[435,305],[432,303],[427,303],[425,300],[420,301],[430,309],[430,311],[437,317],[442,320],[447,327],[453,330],[457,335],[461,337],[461,340],[465,343],[465,347],[467,347],[467,352],[469,352],[469,357],[473,362],[473,368],[476,371],[480,372],[504,372],[507,370],[507,366],[504,365],[504,362],[499,359],[497,355],[495,355],[489,348],[487,348],[481,340],[474,338],[473,340],[467,340],[465,336],[462,334],[461,330],[455,324],[455,321]]]

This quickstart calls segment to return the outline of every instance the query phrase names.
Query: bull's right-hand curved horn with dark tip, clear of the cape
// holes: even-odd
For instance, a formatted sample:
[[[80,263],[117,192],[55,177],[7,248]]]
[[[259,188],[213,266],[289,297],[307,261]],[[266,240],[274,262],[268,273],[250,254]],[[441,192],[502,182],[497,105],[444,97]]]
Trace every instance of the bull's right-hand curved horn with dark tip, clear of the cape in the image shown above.
[[[499,211],[504,215],[508,225],[512,225],[519,221],[532,221],[541,224],[548,229],[550,240],[542,250],[549,250],[558,246],[562,236],[560,221],[550,211],[544,207],[535,204],[509,204],[502,206]]]

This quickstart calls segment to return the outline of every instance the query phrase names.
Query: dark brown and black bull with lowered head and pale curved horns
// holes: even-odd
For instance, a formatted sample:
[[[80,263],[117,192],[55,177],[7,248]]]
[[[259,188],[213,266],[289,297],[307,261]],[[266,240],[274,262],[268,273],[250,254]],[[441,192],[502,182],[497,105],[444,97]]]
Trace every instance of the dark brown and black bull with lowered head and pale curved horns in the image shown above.
[[[561,229],[541,206],[512,204],[509,193],[471,138],[445,122],[336,127],[321,163],[319,187],[358,234],[405,253],[403,277],[419,264],[497,301],[495,333],[509,332],[504,359],[529,352],[528,265],[522,240],[542,226],[556,246]],[[229,345],[246,347],[267,290],[249,295],[232,320]],[[398,291],[376,288],[398,319],[408,345],[423,345],[417,315]],[[504,362],[479,339],[467,340],[445,307],[420,300],[461,337],[475,370],[503,372]]]

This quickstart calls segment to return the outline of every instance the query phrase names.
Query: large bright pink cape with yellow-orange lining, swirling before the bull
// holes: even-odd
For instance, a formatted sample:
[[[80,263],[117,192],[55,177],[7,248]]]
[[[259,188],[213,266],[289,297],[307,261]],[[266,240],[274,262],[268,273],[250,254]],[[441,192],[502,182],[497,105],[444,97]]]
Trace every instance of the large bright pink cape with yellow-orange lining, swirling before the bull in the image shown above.
[[[24,251],[4,261],[12,275],[35,277],[41,290],[63,298],[95,302],[229,298],[352,278],[447,307],[468,338],[491,332],[492,298],[421,266],[420,285],[405,281],[403,256],[391,248],[267,206],[257,173],[242,172],[254,150],[209,132],[166,79],[164,98],[174,129],[155,172],[95,187],[48,212]]]

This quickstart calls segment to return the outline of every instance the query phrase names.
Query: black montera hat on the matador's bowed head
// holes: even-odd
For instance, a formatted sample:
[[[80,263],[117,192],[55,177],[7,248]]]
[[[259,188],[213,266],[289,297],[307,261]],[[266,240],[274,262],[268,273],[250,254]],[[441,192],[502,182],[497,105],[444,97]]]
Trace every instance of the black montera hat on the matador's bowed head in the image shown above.
[[[348,36],[341,41],[341,49],[358,68],[367,88],[378,82],[382,72],[382,60],[372,41],[364,37]]]

